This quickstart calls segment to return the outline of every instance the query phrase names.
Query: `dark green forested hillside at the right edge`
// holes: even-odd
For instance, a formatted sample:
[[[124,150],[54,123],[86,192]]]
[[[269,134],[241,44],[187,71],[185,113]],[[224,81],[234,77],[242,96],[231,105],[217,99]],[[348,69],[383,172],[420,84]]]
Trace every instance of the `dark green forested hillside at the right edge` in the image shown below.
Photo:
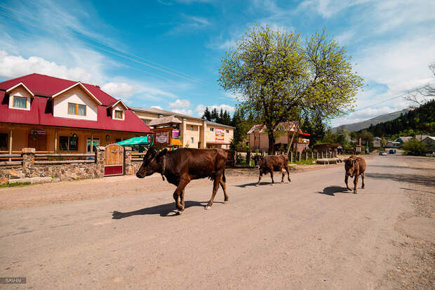
[[[370,125],[367,131],[374,136],[403,135],[412,136],[415,134],[435,135],[435,100],[429,100],[415,110],[401,114],[399,118],[386,121],[376,125]]]

